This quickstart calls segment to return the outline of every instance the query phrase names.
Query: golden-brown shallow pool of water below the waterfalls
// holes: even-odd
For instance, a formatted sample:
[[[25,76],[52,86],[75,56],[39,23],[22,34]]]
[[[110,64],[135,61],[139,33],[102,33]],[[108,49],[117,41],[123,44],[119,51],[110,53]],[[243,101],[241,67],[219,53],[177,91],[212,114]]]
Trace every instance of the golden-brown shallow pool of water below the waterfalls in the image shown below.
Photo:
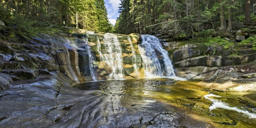
[[[175,126],[197,127],[193,121],[200,121],[204,127],[256,127],[256,106],[242,97],[248,92],[220,92],[201,88],[194,81],[175,81],[169,78],[87,82],[77,84],[74,88],[98,90],[101,95],[115,95],[123,109],[127,108],[128,111],[130,106],[137,106],[135,109],[140,115],[144,115],[147,110],[161,108],[187,118],[177,121]],[[155,106],[151,103],[165,105]],[[157,118],[159,122],[161,119],[170,119],[166,116]],[[157,121],[149,121],[149,124],[155,127],[174,125]]]

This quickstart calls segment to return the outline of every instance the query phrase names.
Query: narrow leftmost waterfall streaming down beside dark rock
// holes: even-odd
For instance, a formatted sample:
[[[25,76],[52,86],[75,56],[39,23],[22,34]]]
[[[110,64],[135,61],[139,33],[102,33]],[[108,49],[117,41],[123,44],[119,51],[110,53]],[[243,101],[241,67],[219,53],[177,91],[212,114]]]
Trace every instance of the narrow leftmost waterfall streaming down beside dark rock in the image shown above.
[[[87,52],[89,56],[89,68],[91,73],[91,79],[92,81],[97,81],[97,76],[95,73],[95,67],[97,66],[97,62],[95,60],[95,57],[92,55],[91,47],[88,45],[88,38],[83,38],[83,40],[87,43],[87,46],[85,46],[85,51]]]

